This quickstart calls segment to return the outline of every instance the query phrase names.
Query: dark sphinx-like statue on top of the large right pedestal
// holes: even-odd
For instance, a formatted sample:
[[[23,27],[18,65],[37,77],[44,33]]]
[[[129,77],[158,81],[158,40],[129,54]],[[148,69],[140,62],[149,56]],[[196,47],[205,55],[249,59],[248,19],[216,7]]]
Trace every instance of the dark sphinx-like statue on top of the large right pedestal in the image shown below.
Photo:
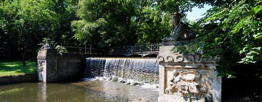
[[[163,42],[166,41],[181,41],[181,40],[189,40],[194,39],[195,35],[191,33],[190,27],[188,24],[183,23],[182,15],[180,13],[173,13],[172,15],[172,36],[165,37]]]

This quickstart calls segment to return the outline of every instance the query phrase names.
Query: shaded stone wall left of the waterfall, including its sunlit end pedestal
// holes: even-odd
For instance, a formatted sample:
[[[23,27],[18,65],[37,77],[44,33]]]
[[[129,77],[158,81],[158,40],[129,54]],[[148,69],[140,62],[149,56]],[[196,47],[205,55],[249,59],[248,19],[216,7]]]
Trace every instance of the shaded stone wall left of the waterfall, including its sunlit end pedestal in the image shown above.
[[[37,55],[38,80],[55,82],[83,78],[85,59],[101,56],[105,55],[65,53],[61,56],[52,49],[39,50]]]

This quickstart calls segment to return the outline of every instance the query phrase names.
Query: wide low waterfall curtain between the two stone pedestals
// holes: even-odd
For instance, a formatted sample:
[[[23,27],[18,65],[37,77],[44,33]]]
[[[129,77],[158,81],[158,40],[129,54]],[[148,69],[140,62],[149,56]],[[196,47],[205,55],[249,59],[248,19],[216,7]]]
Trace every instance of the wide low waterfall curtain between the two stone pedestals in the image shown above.
[[[87,58],[86,78],[116,77],[145,83],[158,83],[156,58]]]

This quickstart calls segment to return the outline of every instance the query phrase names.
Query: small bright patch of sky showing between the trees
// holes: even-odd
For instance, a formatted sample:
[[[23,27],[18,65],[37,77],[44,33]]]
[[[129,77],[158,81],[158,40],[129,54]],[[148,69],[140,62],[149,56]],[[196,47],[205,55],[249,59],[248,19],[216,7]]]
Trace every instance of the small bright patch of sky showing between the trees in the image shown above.
[[[199,8],[197,8],[197,7],[194,7],[194,8],[192,8],[192,12],[186,12],[187,18],[188,18],[189,20],[194,20],[194,21],[196,21],[197,19],[203,17],[202,15],[203,15],[204,13],[206,13],[207,10],[209,10],[211,7],[212,7],[212,6],[209,6],[209,5],[205,5],[204,8],[201,8],[201,9],[199,9]]]

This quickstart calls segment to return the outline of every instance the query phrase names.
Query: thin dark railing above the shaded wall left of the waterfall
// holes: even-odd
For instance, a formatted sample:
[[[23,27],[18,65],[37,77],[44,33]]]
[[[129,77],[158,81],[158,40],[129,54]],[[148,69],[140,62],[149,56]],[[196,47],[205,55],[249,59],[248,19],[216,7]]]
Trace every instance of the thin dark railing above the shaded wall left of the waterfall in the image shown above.
[[[84,47],[73,47],[68,45],[63,45],[62,42],[57,42],[54,44],[54,47],[57,45],[65,47],[67,49],[67,53],[80,53],[80,54],[104,54],[105,49],[100,49],[95,45],[84,45]]]

